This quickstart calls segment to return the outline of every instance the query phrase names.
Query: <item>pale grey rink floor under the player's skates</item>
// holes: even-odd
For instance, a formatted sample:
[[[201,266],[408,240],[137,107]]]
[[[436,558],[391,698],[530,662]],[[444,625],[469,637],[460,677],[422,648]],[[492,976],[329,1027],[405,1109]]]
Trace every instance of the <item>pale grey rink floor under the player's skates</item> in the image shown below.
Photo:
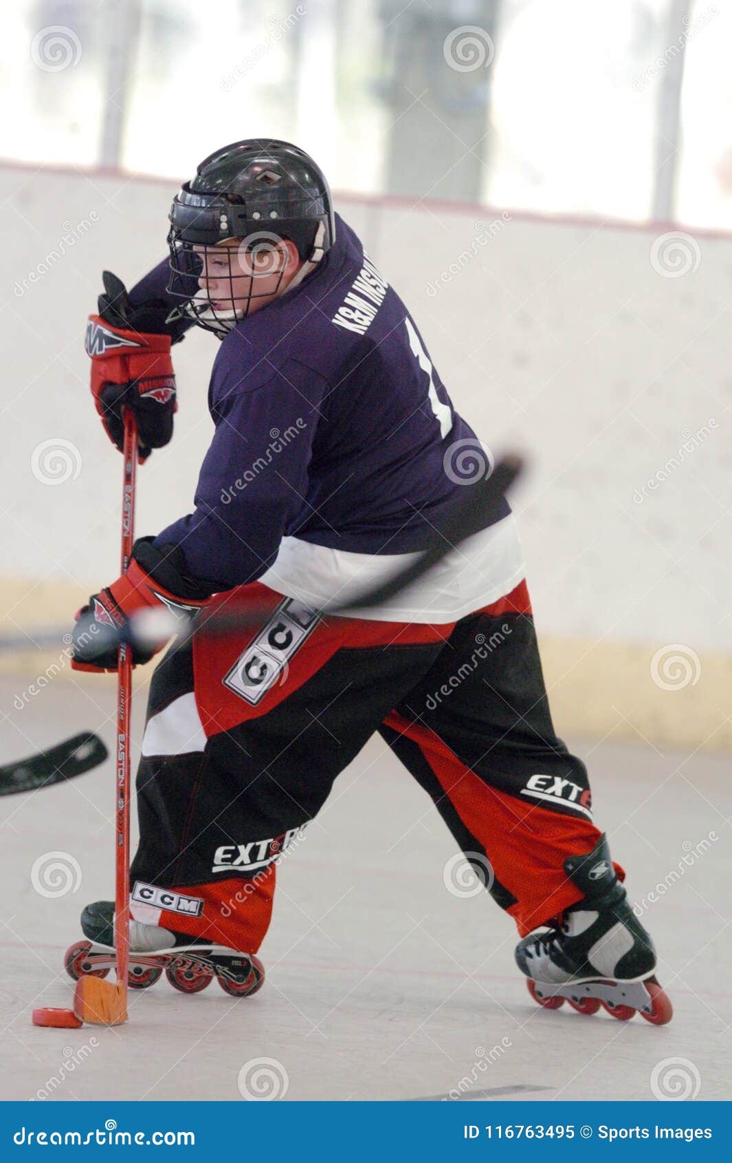
[[[0,682],[2,762],[113,712],[109,687],[84,693],[60,680],[16,712],[24,685]],[[110,728],[100,732],[108,744]],[[539,1009],[514,968],[512,923],[482,893],[450,894],[451,836],[372,740],[281,865],[257,997],[235,1000],[216,984],[185,997],[162,979],[131,994],[123,1028],[35,1028],[34,1006],[71,1005],[62,958],[80,936],[81,906],[113,896],[108,759],[73,784],[0,800],[0,1098],[241,1100],[239,1071],[261,1057],[275,1059],[295,1100],[650,1099],[656,1066],[656,1089],[694,1092],[698,1078],[699,1099],[729,1098],[730,763],[663,755],[643,740],[569,743],[588,762],[596,819],[631,894],[668,879],[645,915],[676,1008],[669,1026]],[[46,852],[78,862],[76,893],[35,891],[31,868]]]

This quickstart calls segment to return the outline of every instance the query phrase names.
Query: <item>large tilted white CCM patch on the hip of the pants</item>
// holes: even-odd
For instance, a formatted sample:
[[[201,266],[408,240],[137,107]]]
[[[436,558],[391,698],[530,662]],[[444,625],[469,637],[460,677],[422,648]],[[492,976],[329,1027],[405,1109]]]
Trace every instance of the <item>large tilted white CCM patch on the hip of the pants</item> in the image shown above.
[[[313,633],[317,612],[296,598],[281,602],[244,654],[239,655],[223,685],[257,706],[278,678],[287,678],[289,659]]]

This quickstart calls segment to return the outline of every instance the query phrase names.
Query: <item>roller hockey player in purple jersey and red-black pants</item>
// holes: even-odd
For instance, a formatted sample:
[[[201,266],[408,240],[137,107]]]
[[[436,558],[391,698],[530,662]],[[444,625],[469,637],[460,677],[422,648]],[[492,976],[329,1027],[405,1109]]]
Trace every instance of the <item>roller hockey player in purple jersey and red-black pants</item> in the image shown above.
[[[117,448],[132,411],[145,458],[171,438],[171,345],[196,324],[221,341],[214,437],[193,512],[138,540],[85,618],[247,597],[270,614],[253,635],[173,643],[152,677],[131,983],[166,968],[184,990],[213,975],[230,992],[259,986],[278,858],[378,732],[514,918],[537,1000],[667,1021],[586,766],[554,733],[509,506],[380,608],[317,615],[430,544],[466,456],[489,468],[323,173],[285,142],[238,142],[201,163],[170,223],[170,257],[129,293],[105,273],[92,391]],[[77,640],[77,666],[116,666],[93,635]],[[81,925],[76,976],[110,964],[112,902]]]

